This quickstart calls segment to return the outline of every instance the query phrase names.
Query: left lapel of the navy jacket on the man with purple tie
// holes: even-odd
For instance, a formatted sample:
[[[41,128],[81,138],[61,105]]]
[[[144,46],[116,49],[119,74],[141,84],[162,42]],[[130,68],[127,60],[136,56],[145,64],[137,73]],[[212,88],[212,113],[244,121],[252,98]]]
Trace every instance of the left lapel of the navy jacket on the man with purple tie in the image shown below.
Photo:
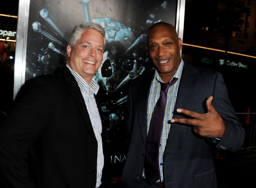
[[[137,101],[138,120],[139,120],[139,127],[141,131],[141,137],[142,137],[145,148],[147,143],[147,106],[148,106],[150,86],[151,86],[153,76],[154,74],[150,73],[149,76],[144,78],[138,89],[138,101]]]

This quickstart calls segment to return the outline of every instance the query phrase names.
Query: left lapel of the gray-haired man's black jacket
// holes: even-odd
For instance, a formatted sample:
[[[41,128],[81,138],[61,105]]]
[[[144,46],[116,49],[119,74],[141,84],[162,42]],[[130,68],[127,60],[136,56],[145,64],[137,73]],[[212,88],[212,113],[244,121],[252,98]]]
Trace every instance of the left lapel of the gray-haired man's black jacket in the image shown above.
[[[93,126],[91,124],[90,116],[87,111],[85,101],[83,99],[83,96],[82,96],[79,86],[77,84],[77,81],[75,80],[74,76],[71,74],[71,72],[69,71],[69,69],[66,66],[63,67],[62,73],[65,77],[65,81],[69,84],[69,91],[70,91],[71,95],[73,96],[75,102],[77,103],[77,106],[81,112],[81,115],[85,121],[85,124],[86,124],[89,132],[96,139],[94,131],[93,131]]]

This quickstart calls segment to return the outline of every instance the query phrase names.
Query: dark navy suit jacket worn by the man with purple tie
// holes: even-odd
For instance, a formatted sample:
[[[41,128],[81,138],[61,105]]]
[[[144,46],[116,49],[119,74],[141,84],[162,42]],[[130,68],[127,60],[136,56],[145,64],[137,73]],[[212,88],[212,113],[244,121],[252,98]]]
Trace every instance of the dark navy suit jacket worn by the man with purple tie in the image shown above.
[[[147,105],[154,72],[139,77],[130,84],[128,93],[128,132],[131,135],[121,187],[148,187],[142,179],[147,140]],[[221,115],[225,133],[217,148],[236,151],[242,147],[245,132],[228,98],[220,73],[193,67],[184,62],[175,110],[184,108],[206,113],[206,99]],[[183,118],[174,111],[173,118]],[[212,157],[212,143],[196,135],[191,126],[173,123],[163,154],[165,187],[217,187]]]

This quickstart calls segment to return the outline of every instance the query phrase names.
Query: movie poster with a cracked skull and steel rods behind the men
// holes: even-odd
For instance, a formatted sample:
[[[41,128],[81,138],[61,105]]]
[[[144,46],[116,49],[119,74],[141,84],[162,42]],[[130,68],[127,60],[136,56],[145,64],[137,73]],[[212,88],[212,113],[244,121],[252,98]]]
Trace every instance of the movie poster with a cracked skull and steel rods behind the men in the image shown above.
[[[100,85],[102,111],[111,138],[112,185],[119,187],[126,160],[127,87],[153,69],[146,51],[147,29],[156,22],[175,26],[174,0],[30,0],[25,80],[53,73],[66,64],[66,46],[74,26],[101,24],[106,31]]]

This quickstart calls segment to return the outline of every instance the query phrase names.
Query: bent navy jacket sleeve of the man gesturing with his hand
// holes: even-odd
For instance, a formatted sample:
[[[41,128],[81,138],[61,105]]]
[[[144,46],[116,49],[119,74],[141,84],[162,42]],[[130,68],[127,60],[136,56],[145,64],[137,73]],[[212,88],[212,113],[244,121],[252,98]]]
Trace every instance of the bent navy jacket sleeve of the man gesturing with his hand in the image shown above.
[[[231,152],[237,151],[243,145],[245,131],[231,105],[227,88],[220,73],[217,73],[215,79],[212,104],[225,124],[225,133],[221,140],[217,142],[216,147]]]

